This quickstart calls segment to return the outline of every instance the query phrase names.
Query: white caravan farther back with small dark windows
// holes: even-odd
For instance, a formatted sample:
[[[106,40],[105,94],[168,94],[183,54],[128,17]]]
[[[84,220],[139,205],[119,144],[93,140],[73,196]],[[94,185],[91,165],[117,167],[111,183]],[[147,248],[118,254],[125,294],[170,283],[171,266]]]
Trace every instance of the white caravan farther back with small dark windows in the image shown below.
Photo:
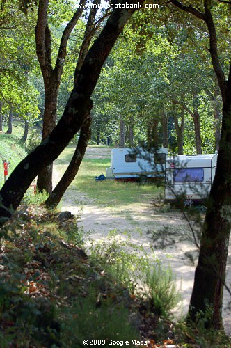
[[[111,150],[111,167],[106,168],[106,178],[134,180],[138,177],[164,177],[167,148],[151,155],[141,148],[116,148]]]

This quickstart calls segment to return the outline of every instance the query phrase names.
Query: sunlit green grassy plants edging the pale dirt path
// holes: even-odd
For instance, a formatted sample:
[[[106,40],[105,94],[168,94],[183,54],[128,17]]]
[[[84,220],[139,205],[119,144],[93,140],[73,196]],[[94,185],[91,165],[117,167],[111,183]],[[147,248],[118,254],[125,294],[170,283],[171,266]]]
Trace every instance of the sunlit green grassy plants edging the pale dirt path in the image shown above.
[[[132,244],[129,236],[121,240],[115,232],[110,233],[106,240],[93,244],[91,256],[132,293],[148,299],[150,308],[161,317],[168,317],[180,300],[171,269],[165,269],[153,253],[144,253],[142,246]],[[143,290],[136,290],[137,285]]]

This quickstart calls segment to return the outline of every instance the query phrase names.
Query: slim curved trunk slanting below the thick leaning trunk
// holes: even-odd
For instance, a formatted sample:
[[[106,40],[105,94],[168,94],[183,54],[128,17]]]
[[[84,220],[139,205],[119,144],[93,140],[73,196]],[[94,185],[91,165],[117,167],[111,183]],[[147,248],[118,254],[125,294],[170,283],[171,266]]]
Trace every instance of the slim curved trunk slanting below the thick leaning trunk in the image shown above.
[[[63,194],[74,180],[74,177],[77,175],[79,171],[79,166],[86,152],[88,141],[90,139],[90,124],[91,118],[89,116],[87,124],[81,128],[79,141],[77,144],[77,148],[75,149],[74,155],[72,157],[72,160],[70,161],[67,170],[63,174],[63,177],[58,182],[49,198],[47,198],[45,202],[46,207],[54,208],[58,205],[58,203],[61,201],[61,198],[63,197]]]

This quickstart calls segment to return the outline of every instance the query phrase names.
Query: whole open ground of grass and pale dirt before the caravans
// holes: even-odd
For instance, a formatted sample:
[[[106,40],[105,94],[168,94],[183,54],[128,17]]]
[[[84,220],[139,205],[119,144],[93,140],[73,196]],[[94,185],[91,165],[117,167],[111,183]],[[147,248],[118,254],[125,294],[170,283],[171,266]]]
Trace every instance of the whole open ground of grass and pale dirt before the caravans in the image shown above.
[[[61,177],[74,146],[63,152],[54,165],[55,182]],[[111,231],[116,231],[121,239],[127,234],[134,244],[142,245],[145,251],[154,248],[154,253],[164,264],[170,264],[177,278],[177,286],[182,294],[182,302],[175,315],[180,317],[188,309],[195,266],[189,262],[196,258],[196,247],[189,224],[182,212],[170,209],[159,198],[164,188],[152,184],[115,182],[104,180],[95,182],[94,177],[105,173],[110,163],[110,148],[89,147],[81,164],[79,174],[67,189],[61,201],[62,210],[70,210],[80,215],[79,226],[83,227],[86,239],[104,239]],[[166,248],[160,248],[161,241],[154,237],[166,232]],[[163,233],[160,233],[163,235]],[[155,243],[153,244],[153,240]],[[87,244],[89,245],[89,244]],[[231,285],[231,246],[229,249],[226,282]],[[231,310],[228,308],[230,296],[224,290],[223,318],[225,329],[231,334]],[[229,306],[230,307],[230,306]]]

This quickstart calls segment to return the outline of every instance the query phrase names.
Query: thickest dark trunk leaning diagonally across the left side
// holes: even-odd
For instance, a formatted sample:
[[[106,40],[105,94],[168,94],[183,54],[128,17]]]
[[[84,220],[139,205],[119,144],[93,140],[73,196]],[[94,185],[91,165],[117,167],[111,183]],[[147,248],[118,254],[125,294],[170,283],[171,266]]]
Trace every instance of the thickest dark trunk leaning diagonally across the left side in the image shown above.
[[[127,0],[127,3],[140,3],[142,5],[143,0]],[[88,51],[79,72],[77,84],[70,94],[58,125],[33,152],[19,163],[1,188],[1,223],[12,216],[38,172],[49,166],[60,155],[74,134],[87,122],[90,109],[93,106],[90,97],[99,79],[102,66],[135,10],[136,8],[131,6],[128,9],[116,8],[111,13],[104,29]]]

